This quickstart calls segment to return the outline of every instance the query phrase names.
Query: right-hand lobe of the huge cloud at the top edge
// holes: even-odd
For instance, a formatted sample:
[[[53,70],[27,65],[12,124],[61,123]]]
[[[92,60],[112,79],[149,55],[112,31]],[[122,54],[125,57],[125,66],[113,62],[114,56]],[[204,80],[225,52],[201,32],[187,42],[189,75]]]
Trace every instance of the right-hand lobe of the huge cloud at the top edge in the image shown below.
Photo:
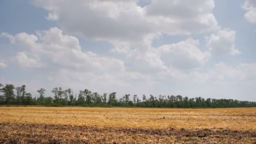
[[[143,12],[163,33],[190,34],[219,29],[213,8],[213,0],[152,0]]]

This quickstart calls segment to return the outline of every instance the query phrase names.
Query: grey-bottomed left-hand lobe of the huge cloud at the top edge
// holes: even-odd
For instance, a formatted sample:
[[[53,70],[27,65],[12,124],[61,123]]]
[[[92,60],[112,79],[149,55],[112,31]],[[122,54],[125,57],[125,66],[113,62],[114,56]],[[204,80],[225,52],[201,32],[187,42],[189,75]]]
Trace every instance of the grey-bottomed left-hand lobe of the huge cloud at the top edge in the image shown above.
[[[54,13],[65,30],[92,39],[136,40],[152,31],[135,0],[77,0],[75,3],[35,0],[34,3]]]

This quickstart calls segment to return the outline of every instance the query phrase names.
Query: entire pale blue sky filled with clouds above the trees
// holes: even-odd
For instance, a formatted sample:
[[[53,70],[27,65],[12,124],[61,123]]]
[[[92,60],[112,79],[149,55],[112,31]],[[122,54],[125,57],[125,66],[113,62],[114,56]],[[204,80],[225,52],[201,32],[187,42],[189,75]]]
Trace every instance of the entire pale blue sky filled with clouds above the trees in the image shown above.
[[[256,0],[1,0],[0,83],[256,101]]]

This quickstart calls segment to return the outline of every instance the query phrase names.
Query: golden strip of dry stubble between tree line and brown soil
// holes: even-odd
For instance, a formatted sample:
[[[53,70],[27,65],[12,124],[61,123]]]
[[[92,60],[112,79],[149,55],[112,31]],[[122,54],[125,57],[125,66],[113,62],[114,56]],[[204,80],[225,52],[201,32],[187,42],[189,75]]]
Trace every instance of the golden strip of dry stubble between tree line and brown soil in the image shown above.
[[[0,107],[0,115],[0,123],[96,125],[119,128],[172,127],[256,130],[256,108]]]

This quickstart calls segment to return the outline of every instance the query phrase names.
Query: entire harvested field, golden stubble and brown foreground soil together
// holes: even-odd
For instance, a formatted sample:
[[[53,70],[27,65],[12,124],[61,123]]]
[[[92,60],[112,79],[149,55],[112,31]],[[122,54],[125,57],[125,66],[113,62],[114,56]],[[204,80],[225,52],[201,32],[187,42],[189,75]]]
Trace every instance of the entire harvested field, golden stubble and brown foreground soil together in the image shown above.
[[[256,108],[0,107],[0,143],[248,143]]]

